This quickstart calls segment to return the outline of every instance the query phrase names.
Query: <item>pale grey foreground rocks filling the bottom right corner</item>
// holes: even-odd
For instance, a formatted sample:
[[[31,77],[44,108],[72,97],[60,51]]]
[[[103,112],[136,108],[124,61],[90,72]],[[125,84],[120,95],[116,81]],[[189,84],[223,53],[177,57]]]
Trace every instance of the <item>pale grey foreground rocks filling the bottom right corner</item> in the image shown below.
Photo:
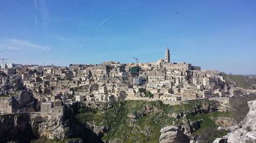
[[[227,135],[227,142],[256,142],[256,100],[249,101],[249,112],[243,120],[242,128]]]

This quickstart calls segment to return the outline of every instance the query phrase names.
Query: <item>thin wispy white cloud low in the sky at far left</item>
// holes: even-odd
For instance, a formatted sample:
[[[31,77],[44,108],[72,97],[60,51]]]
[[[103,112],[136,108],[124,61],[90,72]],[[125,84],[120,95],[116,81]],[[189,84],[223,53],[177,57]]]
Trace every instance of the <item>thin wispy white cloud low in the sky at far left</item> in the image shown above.
[[[0,49],[47,51],[47,50],[50,50],[51,47],[34,44],[27,40],[4,38],[3,40],[0,40]]]

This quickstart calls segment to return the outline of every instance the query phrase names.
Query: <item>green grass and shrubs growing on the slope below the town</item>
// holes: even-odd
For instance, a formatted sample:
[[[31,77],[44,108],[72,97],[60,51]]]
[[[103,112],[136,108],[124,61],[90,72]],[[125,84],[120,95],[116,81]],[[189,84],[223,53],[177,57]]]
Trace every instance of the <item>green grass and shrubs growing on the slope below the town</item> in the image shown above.
[[[170,114],[191,112],[195,108],[209,107],[214,102],[202,100],[190,104],[169,106],[161,101],[116,101],[100,103],[98,107],[77,104],[72,107],[76,123],[82,123],[86,128],[102,128],[103,141],[116,140],[117,142],[157,142],[160,137],[160,129],[170,125],[183,125],[203,119],[198,130],[193,136],[202,136],[209,128],[214,130],[209,134],[209,140],[220,137],[226,132],[217,131],[217,118],[229,117],[229,112],[214,111],[211,113],[198,113],[198,115],[185,116],[186,118],[171,117]],[[187,119],[187,121],[186,121]],[[70,121],[68,121],[70,122]],[[75,136],[79,137],[79,136]],[[206,141],[206,142],[208,142]]]

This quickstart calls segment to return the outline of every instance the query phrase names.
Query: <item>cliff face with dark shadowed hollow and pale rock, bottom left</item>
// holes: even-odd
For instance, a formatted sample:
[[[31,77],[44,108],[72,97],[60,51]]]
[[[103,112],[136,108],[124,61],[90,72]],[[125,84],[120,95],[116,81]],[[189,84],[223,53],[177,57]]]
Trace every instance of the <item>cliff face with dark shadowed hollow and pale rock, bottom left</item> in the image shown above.
[[[72,134],[65,125],[63,116],[41,117],[30,113],[0,116],[0,129],[0,142],[13,139],[30,142],[38,137],[60,140],[69,138]]]

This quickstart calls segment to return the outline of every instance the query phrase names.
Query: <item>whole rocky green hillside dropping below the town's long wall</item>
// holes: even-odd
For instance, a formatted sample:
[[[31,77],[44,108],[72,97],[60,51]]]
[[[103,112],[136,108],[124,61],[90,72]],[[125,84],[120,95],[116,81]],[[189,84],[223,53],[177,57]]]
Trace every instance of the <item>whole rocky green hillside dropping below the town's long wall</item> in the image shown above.
[[[170,125],[190,139],[207,135],[203,142],[211,142],[227,133],[217,127],[222,118],[230,117],[229,112],[217,111],[217,106],[207,100],[175,106],[161,101],[76,104],[66,120],[72,125],[72,137],[86,142],[158,142],[161,128]]]

